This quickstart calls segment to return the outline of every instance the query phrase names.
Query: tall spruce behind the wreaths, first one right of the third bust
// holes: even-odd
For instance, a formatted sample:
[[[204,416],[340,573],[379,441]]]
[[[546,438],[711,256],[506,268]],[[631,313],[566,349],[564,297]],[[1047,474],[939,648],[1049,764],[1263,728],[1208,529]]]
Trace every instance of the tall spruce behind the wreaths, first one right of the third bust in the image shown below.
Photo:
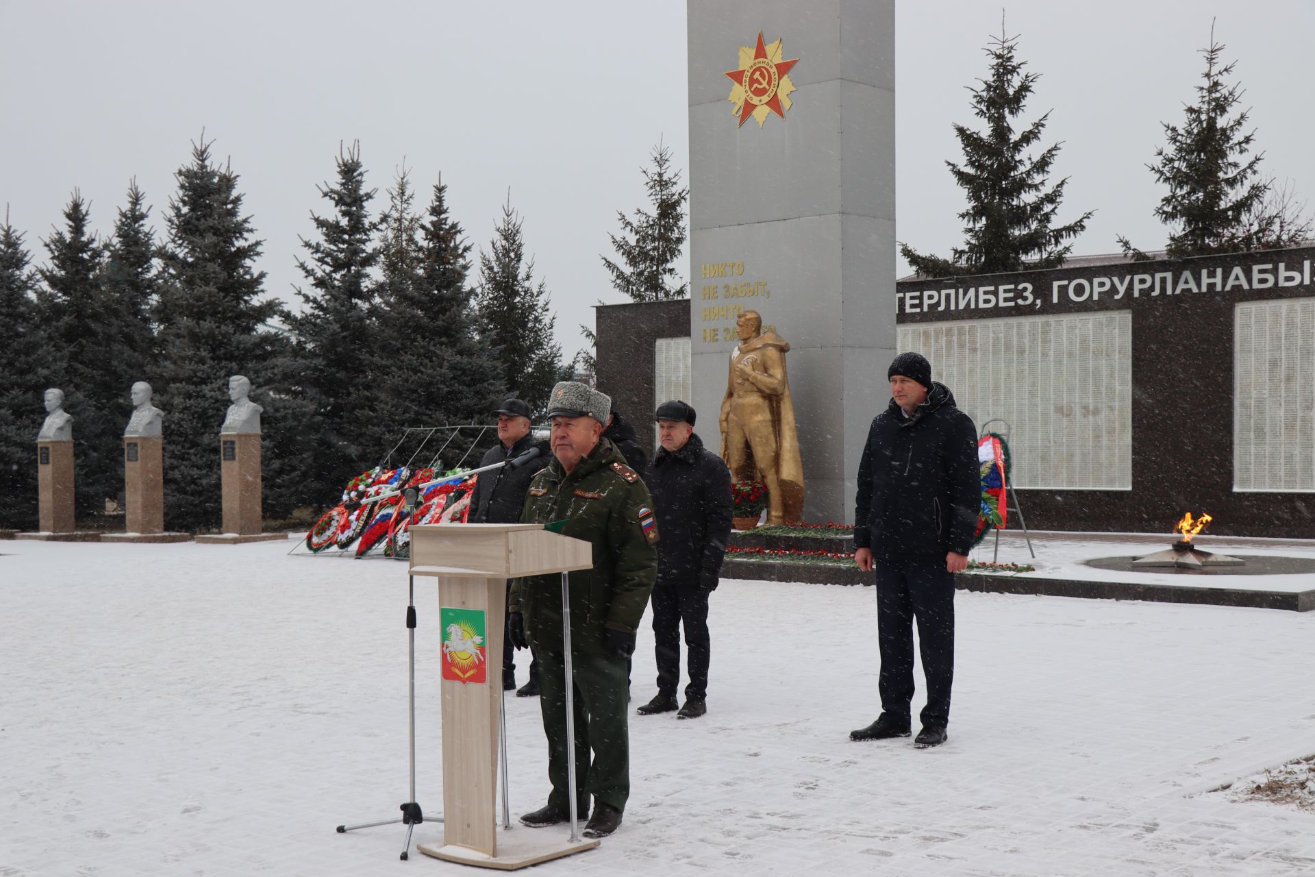
[[[346,153],[339,147],[335,166],[337,181],[318,187],[333,212],[312,213],[317,238],[301,239],[309,256],[297,259],[297,267],[309,291],[297,289],[306,306],[291,318],[299,385],[314,406],[318,434],[318,465],[308,477],[323,496],[368,465],[373,454],[363,415],[375,384],[370,366],[377,343],[371,322],[377,288],[371,272],[380,256],[380,221],[370,216],[375,189],[366,188],[360,145]]]

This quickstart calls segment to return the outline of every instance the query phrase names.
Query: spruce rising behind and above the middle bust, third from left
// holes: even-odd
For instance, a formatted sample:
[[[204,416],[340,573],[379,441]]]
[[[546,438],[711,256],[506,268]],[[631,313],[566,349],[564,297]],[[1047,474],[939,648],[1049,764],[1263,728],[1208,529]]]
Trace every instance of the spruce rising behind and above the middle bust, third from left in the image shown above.
[[[101,363],[113,372],[118,401],[128,400],[134,381],[155,379],[153,352],[155,331],[150,322],[158,292],[155,231],[146,224],[151,209],[137,180],[128,185],[128,204],[118,209],[114,234],[105,247],[100,272],[107,302],[108,334],[114,338],[112,362]],[[154,384],[153,384],[154,388]]]

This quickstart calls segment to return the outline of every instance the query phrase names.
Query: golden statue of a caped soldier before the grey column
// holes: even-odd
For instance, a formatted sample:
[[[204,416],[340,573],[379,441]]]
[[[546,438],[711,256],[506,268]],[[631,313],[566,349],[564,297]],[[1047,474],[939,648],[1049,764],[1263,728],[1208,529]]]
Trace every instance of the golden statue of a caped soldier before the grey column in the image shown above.
[[[742,313],[735,327],[740,346],[731,351],[722,398],[722,459],[735,481],[767,485],[768,523],[802,521],[803,464],[785,376],[790,344],[764,333],[756,310]]]

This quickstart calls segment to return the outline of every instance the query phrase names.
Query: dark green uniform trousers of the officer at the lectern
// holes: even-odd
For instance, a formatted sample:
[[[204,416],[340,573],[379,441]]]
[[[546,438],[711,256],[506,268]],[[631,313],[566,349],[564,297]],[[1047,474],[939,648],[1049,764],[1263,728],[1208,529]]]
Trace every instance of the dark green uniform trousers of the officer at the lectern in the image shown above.
[[[567,690],[562,655],[539,659],[539,709],[548,738],[548,806],[571,806],[567,772]],[[625,811],[630,797],[630,728],[626,723],[626,659],[619,655],[571,656],[575,676],[576,807],[594,801]]]

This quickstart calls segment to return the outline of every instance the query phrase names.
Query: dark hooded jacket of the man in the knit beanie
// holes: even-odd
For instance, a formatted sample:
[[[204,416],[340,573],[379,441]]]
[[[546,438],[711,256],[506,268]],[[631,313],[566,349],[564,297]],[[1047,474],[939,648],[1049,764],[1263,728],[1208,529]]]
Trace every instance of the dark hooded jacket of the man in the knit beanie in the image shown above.
[[[980,509],[977,430],[953,393],[932,381],[909,417],[890,400],[859,463],[855,547],[885,559],[967,555]]]

